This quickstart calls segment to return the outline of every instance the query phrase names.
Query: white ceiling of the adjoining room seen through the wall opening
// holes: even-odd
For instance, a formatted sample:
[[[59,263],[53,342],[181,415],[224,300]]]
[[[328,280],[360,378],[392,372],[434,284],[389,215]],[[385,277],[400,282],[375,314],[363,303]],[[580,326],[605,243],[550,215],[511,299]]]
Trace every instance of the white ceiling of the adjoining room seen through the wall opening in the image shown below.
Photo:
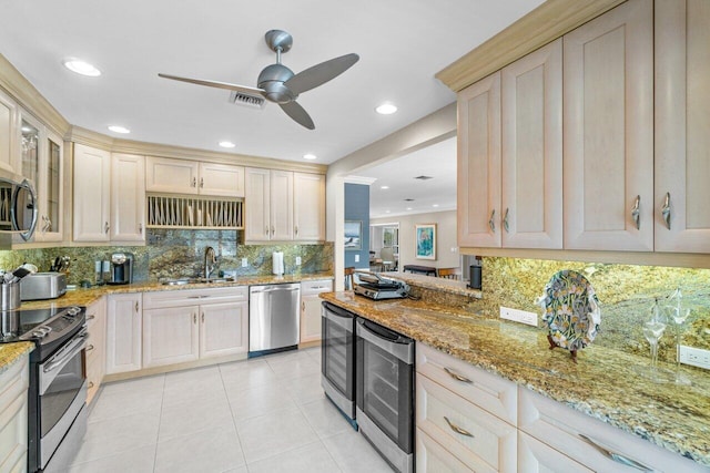
[[[423,181],[417,179],[418,176],[432,178]],[[371,218],[453,210],[456,208],[456,137],[361,171],[357,177],[375,179],[369,186]]]

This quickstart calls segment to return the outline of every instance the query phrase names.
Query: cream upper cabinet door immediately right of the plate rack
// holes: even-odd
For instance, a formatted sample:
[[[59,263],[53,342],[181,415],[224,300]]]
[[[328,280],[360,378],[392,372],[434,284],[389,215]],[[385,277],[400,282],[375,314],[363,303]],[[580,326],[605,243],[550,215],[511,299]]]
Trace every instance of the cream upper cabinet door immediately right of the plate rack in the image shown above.
[[[271,173],[268,169],[247,167],[244,174],[244,239],[267,241],[271,238]]]

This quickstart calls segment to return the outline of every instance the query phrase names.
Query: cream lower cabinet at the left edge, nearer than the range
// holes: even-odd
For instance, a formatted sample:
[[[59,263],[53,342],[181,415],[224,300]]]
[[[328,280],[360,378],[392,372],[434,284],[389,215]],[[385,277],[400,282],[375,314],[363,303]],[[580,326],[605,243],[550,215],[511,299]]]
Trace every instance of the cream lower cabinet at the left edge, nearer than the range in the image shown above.
[[[27,471],[29,354],[0,373],[0,471]]]

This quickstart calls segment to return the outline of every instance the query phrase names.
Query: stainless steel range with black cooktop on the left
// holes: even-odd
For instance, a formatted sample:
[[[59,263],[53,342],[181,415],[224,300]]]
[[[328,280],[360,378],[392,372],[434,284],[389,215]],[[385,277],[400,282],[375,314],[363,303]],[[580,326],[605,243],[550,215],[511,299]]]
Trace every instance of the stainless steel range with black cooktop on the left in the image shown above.
[[[3,311],[0,342],[32,341],[28,471],[63,471],[87,431],[85,309]]]

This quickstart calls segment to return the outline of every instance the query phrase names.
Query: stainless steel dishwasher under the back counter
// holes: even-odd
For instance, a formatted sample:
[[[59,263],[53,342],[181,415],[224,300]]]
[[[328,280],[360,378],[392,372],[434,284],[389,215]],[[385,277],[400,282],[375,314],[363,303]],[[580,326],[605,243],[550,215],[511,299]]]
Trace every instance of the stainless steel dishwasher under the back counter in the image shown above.
[[[298,282],[250,286],[250,357],[297,347],[300,299]]]

